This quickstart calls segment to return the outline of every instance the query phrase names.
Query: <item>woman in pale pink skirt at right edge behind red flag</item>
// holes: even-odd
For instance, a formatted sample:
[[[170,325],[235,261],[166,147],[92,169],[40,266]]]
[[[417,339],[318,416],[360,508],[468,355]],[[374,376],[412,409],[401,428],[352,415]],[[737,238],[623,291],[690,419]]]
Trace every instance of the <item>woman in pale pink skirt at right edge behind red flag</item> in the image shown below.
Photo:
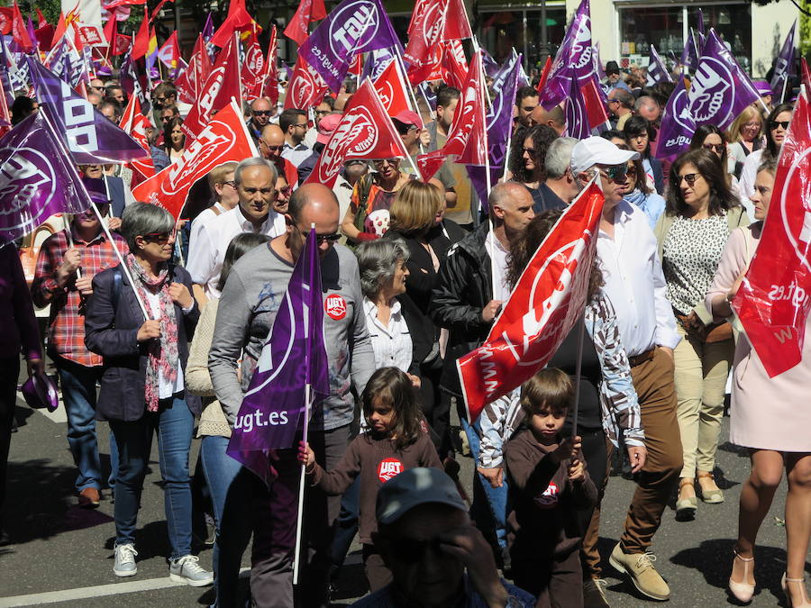
[[[776,163],[758,169],[752,195],[755,222],[732,232],[705,303],[714,319],[733,316],[730,301],[741,286],[763,232],[773,195]],[[782,586],[789,606],[811,606],[803,584],[808,540],[811,536],[811,318],[806,319],[806,340],[799,365],[775,377],[766,373],[761,358],[745,332],[738,335],[733,368],[729,440],[749,449],[752,472],[743,482],[738,510],[738,540],[734,546],[730,592],[741,602],[752,600],[755,590],[754,546],[758,531],[786,469],[786,537],[788,556]],[[740,327],[738,329],[741,329]]]

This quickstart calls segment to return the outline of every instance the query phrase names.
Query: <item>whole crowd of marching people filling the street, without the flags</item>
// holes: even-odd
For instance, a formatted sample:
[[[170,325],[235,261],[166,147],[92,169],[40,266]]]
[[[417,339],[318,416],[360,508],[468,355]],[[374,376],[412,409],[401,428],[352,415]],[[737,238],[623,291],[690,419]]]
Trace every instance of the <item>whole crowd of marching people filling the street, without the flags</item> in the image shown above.
[[[251,538],[253,605],[329,605],[356,534],[371,591],[359,606],[607,606],[606,562],[644,596],[667,600],[652,540],[673,495],[679,522],[724,501],[715,452],[731,376],[730,440],[749,450],[752,470],[734,554],[719,557],[729,591],[752,599],[757,532],[785,469],[781,584],[789,605],[811,605],[802,397],[811,340],[797,367],[769,377],[730,307],[761,239],[792,105],[766,96],[728,131],[703,125],[678,158],[659,159],[673,86],[644,87],[614,62],[606,74],[611,128],[582,140],[566,136],[560,107],[542,107],[533,86],[518,89],[506,179],[481,202],[453,159],[427,182],[409,159],[353,159],[333,188],[305,184],[354,81],[311,108],[246,104],[260,156],[214,168],[179,221],[133,199],[128,169],[79,167],[88,179],[105,174],[102,217],[66,219],[42,243],[30,285],[14,247],[0,249],[0,506],[22,355],[30,375],[58,377],[78,504],[114,498],[115,576],[138,572],[157,433],[169,576],[214,584],[217,606],[236,604]],[[435,93],[435,109],[421,99],[391,117],[414,156],[442,148],[460,104],[452,86]],[[112,77],[88,87],[113,122],[125,97]],[[186,150],[188,107],[169,81],[151,101],[150,154],[167,167]],[[12,110],[16,123],[37,108],[21,97]],[[592,180],[605,204],[581,355],[572,331],[547,368],[469,421],[457,360],[487,338],[534,251]],[[311,226],[330,303],[330,394],[307,440],[273,453],[266,485],[226,449]],[[33,306],[49,305],[43,348]],[[96,420],[109,423],[111,471]],[[195,440],[208,507],[193,499]],[[636,488],[619,542],[600,555],[600,502],[617,451]],[[468,454],[472,500],[460,480]],[[293,585],[302,465],[305,583]],[[214,522],[210,569],[192,553],[201,508]]]

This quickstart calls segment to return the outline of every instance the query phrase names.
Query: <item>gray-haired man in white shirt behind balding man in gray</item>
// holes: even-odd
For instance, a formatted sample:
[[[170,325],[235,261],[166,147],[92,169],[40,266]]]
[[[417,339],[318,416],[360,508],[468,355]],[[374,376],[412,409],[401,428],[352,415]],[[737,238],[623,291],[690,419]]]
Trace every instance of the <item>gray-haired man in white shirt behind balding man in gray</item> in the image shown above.
[[[286,231],[285,218],[272,209],[276,198],[278,172],[266,159],[243,160],[233,172],[239,204],[206,223],[193,240],[186,269],[194,282],[197,304],[220,297],[217,284],[223,269],[225,250],[242,232],[259,232],[277,237]]]

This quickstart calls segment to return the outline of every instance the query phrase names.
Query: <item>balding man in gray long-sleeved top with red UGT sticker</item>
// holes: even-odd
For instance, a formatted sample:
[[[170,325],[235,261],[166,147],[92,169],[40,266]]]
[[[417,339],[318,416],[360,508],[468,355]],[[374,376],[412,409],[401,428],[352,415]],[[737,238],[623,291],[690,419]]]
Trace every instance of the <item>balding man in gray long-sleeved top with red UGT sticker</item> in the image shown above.
[[[323,402],[323,418],[314,415],[309,442],[326,470],[341,459],[350,441],[355,400],[375,368],[374,352],[363,319],[358,262],[351,250],[335,244],[338,201],[332,190],[308,184],[296,190],[286,214],[287,231],[251,250],[234,264],[217,310],[209,354],[214,391],[233,424],[242,395],[268,339],[293,266],[314,224],[321,257],[324,345],[329,360],[331,395]],[[241,360],[241,377],[237,365]],[[323,455],[323,456],[322,456]],[[295,449],[278,450],[278,478],[271,488],[259,479],[252,484],[254,540],[251,594],[258,606],[293,605],[292,559],[300,465]],[[242,473],[245,473],[243,470]],[[329,527],[338,515],[340,497],[313,492],[305,499],[305,539],[310,569],[302,573],[299,601],[328,605]],[[226,511],[228,505],[226,504]],[[305,553],[307,555],[307,553]],[[224,598],[223,598],[224,599]]]

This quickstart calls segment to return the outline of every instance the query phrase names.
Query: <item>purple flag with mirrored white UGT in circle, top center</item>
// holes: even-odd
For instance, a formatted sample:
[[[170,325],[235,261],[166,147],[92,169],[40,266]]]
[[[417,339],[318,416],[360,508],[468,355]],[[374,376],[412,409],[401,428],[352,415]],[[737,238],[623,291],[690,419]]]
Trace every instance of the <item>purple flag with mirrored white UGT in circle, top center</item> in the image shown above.
[[[298,52],[337,91],[355,55],[399,43],[380,0],[343,0]]]

